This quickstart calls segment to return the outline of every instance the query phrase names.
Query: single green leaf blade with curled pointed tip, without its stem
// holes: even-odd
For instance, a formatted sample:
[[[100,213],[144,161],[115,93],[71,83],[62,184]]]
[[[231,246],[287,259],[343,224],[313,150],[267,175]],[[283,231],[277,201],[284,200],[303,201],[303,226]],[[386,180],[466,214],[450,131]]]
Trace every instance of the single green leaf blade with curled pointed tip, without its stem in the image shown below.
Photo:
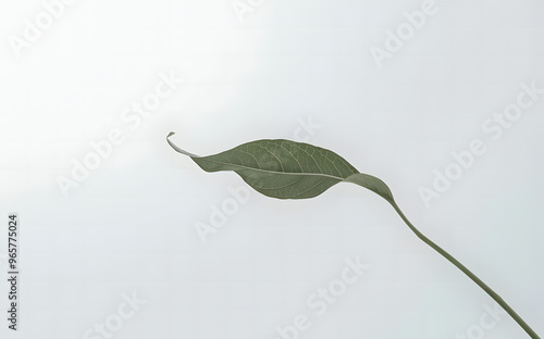
[[[260,193],[277,199],[313,198],[338,183],[353,183],[393,202],[390,188],[381,179],[359,173],[338,154],[309,143],[264,139],[231,150],[198,156],[166,141],[177,152],[190,156],[203,171],[234,171]]]

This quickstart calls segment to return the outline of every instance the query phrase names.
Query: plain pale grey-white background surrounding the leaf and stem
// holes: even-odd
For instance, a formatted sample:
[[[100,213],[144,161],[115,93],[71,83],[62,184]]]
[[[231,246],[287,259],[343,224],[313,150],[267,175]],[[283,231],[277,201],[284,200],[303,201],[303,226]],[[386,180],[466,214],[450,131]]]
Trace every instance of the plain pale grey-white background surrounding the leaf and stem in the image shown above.
[[[0,306],[10,212],[22,300],[21,330],[0,321],[0,336],[273,339],[304,314],[299,338],[480,338],[492,300],[360,187],[305,201],[251,191],[202,243],[195,225],[245,186],[175,153],[171,130],[202,155],[263,138],[337,152],[544,335],[543,97],[496,141],[482,130],[521,84],[544,87],[544,3],[437,0],[379,68],[372,46],[423,2],[254,1],[240,22],[230,0],[79,0],[20,56],[10,37],[44,5],[5,2]],[[132,129],[123,112],[170,72],[184,83]],[[124,142],[63,196],[58,177],[112,128]],[[418,189],[474,139],[486,152],[426,209]],[[307,299],[357,255],[370,268],[316,316]],[[133,292],[146,303],[122,319]],[[506,315],[490,327],[485,338],[528,338]]]

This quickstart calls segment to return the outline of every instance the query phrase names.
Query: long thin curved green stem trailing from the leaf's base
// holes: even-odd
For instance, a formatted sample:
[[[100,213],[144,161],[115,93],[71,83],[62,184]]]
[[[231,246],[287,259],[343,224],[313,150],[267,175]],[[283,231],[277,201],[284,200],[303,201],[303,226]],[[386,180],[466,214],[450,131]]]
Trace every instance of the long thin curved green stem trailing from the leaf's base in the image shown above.
[[[518,324],[523,328],[523,330],[532,338],[540,339],[540,337],[534,332],[534,330],[527,325],[527,323],[500,298],[494,290],[492,290],[487,285],[485,285],[479,277],[477,277],[472,272],[470,272],[467,267],[465,267],[460,262],[458,262],[454,256],[449,255],[448,252],[444,251],[440,246],[431,241],[428,237],[425,237],[422,233],[420,233],[416,226],[413,226],[408,218],[404,215],[403,211],[398,208],[397,203],[393,200],[390,200],[390,203],[393,205],[395,211],[397,211],[398,215],[403,218],[403,221],[410,227],[410,229],[423,240],[424,243],[429,244],[433,250],[438,252],[442,256],[447,259],[452,264],[454,264],[457,268],[462,271],[472,281],[474,281],[478,286],[480,286],[487,294],[490,294],[493,300],[495,300]]]

